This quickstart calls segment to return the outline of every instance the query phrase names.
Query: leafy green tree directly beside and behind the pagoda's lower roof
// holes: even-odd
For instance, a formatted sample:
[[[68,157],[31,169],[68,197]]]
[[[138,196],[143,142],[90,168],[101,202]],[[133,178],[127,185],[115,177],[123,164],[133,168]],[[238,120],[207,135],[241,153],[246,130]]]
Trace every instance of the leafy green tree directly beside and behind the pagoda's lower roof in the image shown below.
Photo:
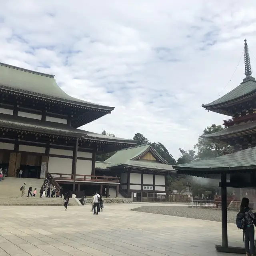
[[[224,130],[221,125],[212,124],[204,129],[202,135],[211,134]],[[229,146],[225,142],[211,142],[202,137],[198,138],[198,143],[194,145],[194,149],[198,150],[196,159],[204,160],[216,156],[222,156],[225,153],[232,153],[233,147]]]

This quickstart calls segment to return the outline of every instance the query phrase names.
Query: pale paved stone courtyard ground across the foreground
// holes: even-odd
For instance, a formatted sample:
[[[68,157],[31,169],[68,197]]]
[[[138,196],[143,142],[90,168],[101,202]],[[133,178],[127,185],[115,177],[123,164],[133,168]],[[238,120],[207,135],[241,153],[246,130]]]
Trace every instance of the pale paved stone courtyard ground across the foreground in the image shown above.
[[[220,222],[130,211],[148,205],[158,204],[105,204],[98,216],[90,205],[0,206],[0,256],[227,255],[215,251]],[[228,234],[243,245],[235,224]]]

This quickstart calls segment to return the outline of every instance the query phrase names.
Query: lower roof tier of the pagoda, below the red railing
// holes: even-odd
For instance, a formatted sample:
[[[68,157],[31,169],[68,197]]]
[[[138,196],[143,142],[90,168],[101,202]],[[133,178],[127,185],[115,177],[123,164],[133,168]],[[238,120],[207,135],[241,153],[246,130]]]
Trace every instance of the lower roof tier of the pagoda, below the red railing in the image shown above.
[[[226,139],[234,136],[242,136],[256,131],[256,121],[248,121],[247,123],[234,124],[219,132],[202,135],[202,138],[208,140]]]

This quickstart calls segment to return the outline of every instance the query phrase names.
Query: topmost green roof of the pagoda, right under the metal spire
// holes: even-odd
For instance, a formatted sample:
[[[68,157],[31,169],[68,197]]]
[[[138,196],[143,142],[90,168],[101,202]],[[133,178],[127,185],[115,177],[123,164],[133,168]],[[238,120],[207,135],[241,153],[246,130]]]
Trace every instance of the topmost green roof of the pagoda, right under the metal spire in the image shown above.
[[[203,107],[207,108],[210,106],[223,104],[230,100],[242,98],[243,96],[251,94],[252,92],[256,92],[256,82],[254,80],[248,80],[246,82],[242,82],[239,86],[234,88],[231,92],[228,92],[227,94],[218,98],[217,100],[214,100],[213,102],[210,102],[208,104],[204,104]]]

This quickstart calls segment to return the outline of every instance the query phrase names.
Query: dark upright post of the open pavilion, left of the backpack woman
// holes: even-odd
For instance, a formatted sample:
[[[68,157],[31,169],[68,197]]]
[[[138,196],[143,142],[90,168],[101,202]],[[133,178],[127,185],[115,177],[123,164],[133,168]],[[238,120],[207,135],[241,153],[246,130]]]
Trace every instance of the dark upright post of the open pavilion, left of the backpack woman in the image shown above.
[[[228,247],[227,175],[226,174],[221,174],[221,226],[222,226],[222,247]]]

